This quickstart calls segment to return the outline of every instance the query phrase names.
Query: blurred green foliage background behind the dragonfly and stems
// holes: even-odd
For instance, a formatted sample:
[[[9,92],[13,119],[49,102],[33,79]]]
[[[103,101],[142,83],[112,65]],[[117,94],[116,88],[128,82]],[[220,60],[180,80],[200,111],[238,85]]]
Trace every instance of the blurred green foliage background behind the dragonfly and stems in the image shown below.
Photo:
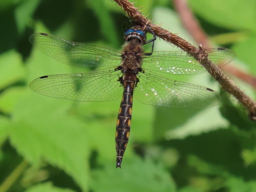
[[[188,4],[212,43],[236,52],[229,65],[255,76],[256,2]],[[172,1],[134,5],[150,13],[153,23],[198,46]],[[29,89],[39,76],[91,70],[44,55],[32,48],[29,35],[50,33],[121,51],[124,20],[111,0],[0,1],[0,191],[256,191],[256,124],[208,73],[169,77],[216,90],[223,99],[219,106],[169,109],[134,100],[122,169],[115,167],[121,98],[75,102]],[[155,51],[175,49],[163,40],[155,43]],[[255,100],[251,85],[231,78]]]

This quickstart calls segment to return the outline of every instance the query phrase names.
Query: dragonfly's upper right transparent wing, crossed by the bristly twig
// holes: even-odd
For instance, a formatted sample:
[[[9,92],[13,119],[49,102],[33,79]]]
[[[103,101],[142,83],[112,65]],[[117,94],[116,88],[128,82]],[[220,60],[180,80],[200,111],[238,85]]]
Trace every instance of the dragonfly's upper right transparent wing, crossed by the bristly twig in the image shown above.
[[[206,49],[208,57],[218,67],[227,65],[236,58],[236,53],[227,48]],[[154,71],[176,74],[193,75],[206,71],[206,69],[191,55],[205,54],[205,52],[189,53],[177,52],[153,52],[151,56],[143,56],[143,68]]]

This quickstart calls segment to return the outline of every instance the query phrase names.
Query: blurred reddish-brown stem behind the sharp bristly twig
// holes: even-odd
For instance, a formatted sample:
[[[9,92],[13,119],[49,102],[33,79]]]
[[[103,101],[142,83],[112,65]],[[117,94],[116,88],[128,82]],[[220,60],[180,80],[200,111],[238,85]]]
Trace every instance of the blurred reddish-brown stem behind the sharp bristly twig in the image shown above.
[[[211,48],[213,45],[208,40],[207,35],[197,22],[195,16],[191,12],[186,0],[173,0],[174,7],[180,15],[184,27],[188,30],[190,35],[196,40],[198,44],[202,44],[205,48]],[[236,69],[234,66],[226,65],[221,68],[223,71],[236,76],[242,81],[252,85],[256,88],[256,78]]]

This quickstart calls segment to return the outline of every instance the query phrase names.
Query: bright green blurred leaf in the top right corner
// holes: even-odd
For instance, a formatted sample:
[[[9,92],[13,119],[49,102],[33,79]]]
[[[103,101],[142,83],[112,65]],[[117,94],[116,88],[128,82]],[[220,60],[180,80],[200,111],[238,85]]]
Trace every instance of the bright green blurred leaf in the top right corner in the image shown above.
[[[254,0],[245,0],[243,3],[233,0],[189,0],[188,3],[197,15],[214,25],[229,29],[256,29],[256,17],[252,16],[256,11]]]

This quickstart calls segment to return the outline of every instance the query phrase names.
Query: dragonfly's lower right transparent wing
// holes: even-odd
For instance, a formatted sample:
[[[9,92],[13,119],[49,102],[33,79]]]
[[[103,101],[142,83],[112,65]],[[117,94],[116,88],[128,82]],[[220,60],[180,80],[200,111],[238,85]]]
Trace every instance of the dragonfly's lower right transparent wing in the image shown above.
[[[169,108],[209,108],[220,104],[218,93],[199,85],[174,81],[155,73],[139,73],[134,97],[141,103]]]

